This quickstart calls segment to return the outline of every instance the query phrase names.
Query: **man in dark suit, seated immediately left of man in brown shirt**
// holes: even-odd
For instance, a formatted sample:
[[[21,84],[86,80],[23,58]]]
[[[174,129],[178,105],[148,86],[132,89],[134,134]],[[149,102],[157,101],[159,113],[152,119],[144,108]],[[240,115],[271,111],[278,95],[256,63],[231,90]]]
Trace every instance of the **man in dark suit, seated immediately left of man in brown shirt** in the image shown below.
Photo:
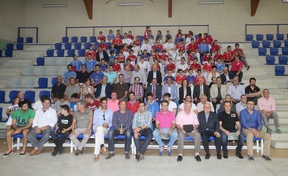
[[[102,83],[99,83],[96,86],[96,92],[95,92],[96,100],[100,100],[102,97],[111,98],[112,85],[110,83],[107,83],[107,81],[108,81],[108,77],[103,76]],[[102,88],[104,87],[105,87],[105,90],[102,92]]]

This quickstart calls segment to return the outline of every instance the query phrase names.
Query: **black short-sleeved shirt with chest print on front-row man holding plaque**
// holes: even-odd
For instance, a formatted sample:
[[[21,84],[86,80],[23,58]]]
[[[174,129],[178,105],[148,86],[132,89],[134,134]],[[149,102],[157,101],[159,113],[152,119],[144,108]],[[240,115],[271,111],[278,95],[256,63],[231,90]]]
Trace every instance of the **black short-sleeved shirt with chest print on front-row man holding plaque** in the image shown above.
[[[231,111],[230,114],[226,111],[219,113],[219,121],[222,121],[222,127],[228,131],[235,130],[236,121],[239,121],[238,115],[236,112]]]

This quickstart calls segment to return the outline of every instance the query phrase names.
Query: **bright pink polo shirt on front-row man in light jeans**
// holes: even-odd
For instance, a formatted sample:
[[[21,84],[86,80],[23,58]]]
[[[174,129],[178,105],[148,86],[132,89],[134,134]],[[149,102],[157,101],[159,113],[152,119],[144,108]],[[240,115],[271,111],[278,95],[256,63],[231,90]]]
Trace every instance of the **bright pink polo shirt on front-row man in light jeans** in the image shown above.
[[[159,126],[161,128],[171,128],[172,121],[175,121],[175,115],[172,111],[168,110],[167,113],[162,111],[156,113],[156,121],[159,121]]]

